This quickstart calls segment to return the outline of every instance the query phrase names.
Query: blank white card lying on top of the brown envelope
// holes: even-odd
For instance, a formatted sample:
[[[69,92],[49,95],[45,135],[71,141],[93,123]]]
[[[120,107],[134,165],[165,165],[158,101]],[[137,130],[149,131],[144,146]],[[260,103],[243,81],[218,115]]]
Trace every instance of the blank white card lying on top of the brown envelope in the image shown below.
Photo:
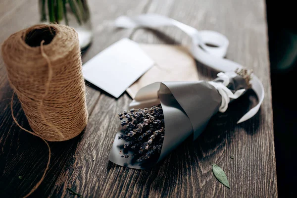
[[[137,43],[125,38],[86,62],[83,75],[90,83],[118,98],[153,64]]]

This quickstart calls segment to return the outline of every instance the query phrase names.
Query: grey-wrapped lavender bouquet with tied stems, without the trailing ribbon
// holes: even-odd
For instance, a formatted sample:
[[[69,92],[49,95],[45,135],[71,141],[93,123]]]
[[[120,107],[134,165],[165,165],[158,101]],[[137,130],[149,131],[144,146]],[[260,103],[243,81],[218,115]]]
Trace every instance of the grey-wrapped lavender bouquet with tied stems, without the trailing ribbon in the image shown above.
[[[250,77],[250,71],[238,69],[210,82],[156,82],[142,88],[132,109],[118,114],[122,129],[109,160],[130,168],[153,166],[192,134],[196,140],[215,113],[225,112],[251,87]]]

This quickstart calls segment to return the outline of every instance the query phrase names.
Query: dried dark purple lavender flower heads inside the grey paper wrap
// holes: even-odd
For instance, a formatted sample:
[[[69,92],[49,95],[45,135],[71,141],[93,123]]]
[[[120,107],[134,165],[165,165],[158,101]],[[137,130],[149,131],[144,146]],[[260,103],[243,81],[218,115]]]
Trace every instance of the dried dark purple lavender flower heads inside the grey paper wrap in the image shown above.
[[[121,120],[122,134],[118,139],[125,140],[124,149],[133,151],[133,159],[145,162],[158,157],[164,140],[164,115],[160,104],[144,109],[130,109],[118,113]],[[121,157],[128,158],[129,155]]]

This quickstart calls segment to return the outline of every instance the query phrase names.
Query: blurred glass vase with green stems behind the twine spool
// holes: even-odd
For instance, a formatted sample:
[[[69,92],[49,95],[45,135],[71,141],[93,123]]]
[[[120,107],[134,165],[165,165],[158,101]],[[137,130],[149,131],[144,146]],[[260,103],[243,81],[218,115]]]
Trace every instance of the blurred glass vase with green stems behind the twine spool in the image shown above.
[[[92,25],[87,0],[39,0],[40,21],[68,25],[78,33],[81,49],[92,41]]]

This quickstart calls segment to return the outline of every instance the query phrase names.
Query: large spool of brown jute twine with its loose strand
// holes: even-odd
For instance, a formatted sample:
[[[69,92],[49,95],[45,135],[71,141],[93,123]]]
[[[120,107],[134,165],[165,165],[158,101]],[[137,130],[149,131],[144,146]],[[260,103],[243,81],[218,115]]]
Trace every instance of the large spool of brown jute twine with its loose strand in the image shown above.
[[[74,29],[56,24],[35,25],[12,34],[2,44],[10,86],[34,132],[45,141],[65,141],[87,125],[81,52]],[[47,141],[46,141],[47,140]],[[49,148],[50,161],[50,148]],[[47,168],[32,194],[44,179]]]

